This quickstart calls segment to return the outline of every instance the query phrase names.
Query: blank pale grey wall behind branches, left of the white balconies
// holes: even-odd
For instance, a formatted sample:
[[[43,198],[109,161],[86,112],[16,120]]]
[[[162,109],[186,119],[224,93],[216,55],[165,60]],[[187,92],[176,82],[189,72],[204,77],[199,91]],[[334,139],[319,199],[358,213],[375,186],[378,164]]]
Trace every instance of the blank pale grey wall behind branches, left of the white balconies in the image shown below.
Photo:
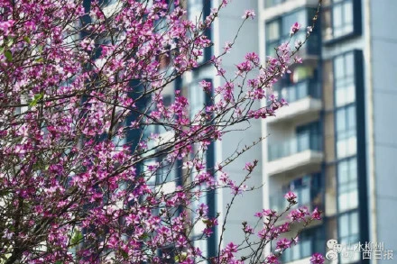
[[[213,3],[213,6],[216,6],[218,2],[219,1],[213,1],[211,3]],[[223,52],[223,47],[226,41],[233,41],[235,33],[243,21],[242,16],[245,13],[245,10],[254,9],[255,13],[258,14],[257,5],[257,0],[231,1],[231,3],[221,11],[219,20],[214,26],[213,32],[213,41],[216,43],[216,46],[214,47],[215,55]],[[244,60],[247,52],[254,51],[259,53],[258,32],[257,18],[245,22],[243,29],[235,41],[234,48],[223,58],[223,68],[228,72],[228,77],[233,77],[235,75],[235,65]],[[215,86],[219,86],[222,83],[224,83],[224,81],[220,77],[215,79]],[[259,107],[259,105],[255,105],[255,107]],[[242,123],[241,125],[235,126],[235,129],[242,129],[247,125],[248,123]],[[261,136],[260,120],[251,122],[251,127],[248,130],[226,134],[223,140],[217,143],[217,160],[220,161],[226,159],[238,148],[241,149],[245,144],[251,144],[253,141],[257,141]],[[236,159],[230,166],[226,167],[225,170],[230,173],[231,178],[235,179],[236,182],[241,182],[246,174],[246,170],[243,170],[245,162],[253,161],[254,159],[258,159],[259,164],[246,184],[249,187],[260,187],[263,184],[261,144],[254,147],[254,149],[249,150],[239,159]],[[226,205],[230,203],[231,198],[232,195],[228,189],[224,190],[219,194],[219,196],[217,196],[217,211],[221,213],[219,220],[223,220],[223,217],[225,217]],[[229,241],[242,241],[244,239],[242,222],[247,221],[254,225],[254,221],[256,220],[254,218],[254,213],[259,212],[262,209],[262,189],[247,192],[244,196],[238,196],[235,199],[235,203],[227,218],[224,244]],[[221,231],[220,228],[219,231]]]

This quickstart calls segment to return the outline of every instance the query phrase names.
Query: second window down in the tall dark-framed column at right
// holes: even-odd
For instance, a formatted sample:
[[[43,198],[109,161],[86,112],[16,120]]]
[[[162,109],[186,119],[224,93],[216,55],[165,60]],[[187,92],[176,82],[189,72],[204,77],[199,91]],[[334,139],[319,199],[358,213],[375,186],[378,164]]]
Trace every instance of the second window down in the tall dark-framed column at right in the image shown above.
[[[355,129],[355,105],[337,109],[337,159],[355,155],[357,138]]]

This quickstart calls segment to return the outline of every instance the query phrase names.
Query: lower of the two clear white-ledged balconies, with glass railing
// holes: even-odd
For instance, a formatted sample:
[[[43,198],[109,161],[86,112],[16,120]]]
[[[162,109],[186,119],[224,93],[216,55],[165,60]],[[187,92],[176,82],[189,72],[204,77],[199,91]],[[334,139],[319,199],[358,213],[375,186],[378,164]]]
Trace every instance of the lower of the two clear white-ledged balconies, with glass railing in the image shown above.
[[[269,175],[309,172],[319,169],[322,159],[321,136],[305,133],[280,144],[269,145],[265,170]]]

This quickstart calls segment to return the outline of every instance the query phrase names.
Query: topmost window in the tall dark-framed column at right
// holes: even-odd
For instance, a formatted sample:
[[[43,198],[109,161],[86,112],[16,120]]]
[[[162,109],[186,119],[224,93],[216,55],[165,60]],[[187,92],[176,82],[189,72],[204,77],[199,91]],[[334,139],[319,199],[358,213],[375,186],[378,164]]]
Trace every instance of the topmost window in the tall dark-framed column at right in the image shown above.
[[[349,52],[334,59],[335,106],[355,102],[355,61]]]

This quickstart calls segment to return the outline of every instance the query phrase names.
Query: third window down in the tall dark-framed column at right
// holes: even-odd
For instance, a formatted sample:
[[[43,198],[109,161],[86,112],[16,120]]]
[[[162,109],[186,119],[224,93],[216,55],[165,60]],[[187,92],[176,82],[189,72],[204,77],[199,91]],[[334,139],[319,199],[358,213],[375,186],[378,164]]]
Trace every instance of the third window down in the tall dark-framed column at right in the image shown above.
[[[357,162],[346,159],[337,163],[337,206],[346,212],[358,206]]]

